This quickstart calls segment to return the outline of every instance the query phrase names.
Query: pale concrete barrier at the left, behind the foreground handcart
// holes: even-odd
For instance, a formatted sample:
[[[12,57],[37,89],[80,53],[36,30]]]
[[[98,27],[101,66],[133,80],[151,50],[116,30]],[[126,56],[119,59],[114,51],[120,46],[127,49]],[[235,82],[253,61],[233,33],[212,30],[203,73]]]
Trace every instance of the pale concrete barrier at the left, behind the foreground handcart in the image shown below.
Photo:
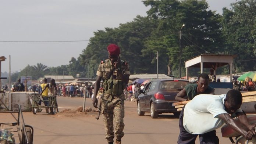
[[[34,92],[11,92],[11,110],[14,109],[15,104],[21,105],[21,110],[22,111],[32,111],[32,94]],[[0,94],[0,100],[3,102],[0,102],[1,107],[4,107],[6,105],[7,108],[9,108],[9,92],[6,93],[1,93]]]

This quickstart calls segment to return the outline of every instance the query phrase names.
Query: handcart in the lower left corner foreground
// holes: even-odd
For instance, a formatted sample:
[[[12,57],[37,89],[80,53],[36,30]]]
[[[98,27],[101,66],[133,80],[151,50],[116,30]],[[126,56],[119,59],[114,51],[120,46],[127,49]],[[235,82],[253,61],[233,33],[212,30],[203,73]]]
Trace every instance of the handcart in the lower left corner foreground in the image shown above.
[[[15,138],[12,137],[12,143],[13,144],[33,144],[33,127],[29,125],[25,125],[24,118],[21,111],[21,106],[19,104],[14,105],[17,111],[0,111],[0,113],[10,113],[13,118],[15,119],[15,122],[6,122],[6,123],[0,123],[0,129],[1,130],[8,130],[11,133],[18,134],[18,140],[15,141]],[[17,113],[18,116],[14,116],[14,113]]]

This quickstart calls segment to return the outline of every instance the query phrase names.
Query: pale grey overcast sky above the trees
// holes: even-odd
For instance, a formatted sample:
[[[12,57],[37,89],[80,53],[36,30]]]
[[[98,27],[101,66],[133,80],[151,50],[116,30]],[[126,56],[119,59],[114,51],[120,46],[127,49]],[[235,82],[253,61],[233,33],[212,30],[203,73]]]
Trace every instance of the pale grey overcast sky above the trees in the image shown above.
[[[210,10],[222,14],[236,0],[206,0]],[[136,15],[146,16],[141,0],[4,0],[0,4],[0,41],[89,40],[93,32],[118,27]],[[28,64],[49,67],[69,64],[88,42],[0,42],[1,71],[19,72]]]

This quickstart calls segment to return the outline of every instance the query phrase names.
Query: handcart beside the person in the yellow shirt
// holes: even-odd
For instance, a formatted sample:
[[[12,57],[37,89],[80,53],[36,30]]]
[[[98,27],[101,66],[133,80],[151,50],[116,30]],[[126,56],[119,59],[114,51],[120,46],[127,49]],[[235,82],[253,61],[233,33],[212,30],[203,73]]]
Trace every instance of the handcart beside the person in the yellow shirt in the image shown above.
[[[36,112],[41,112],[42,108],[53,108],[53,113],[55,114],[56,111],[58,112],[58,104],[57,104],[57,100],[56,100],[56,96],[48,96],[49,100],[43,100],[43,98],[41,98],[43,95],[42,94],[38,94],[35,93],[32,94],[32,111],[33,114],[36,114]],[[42,106],[42,102],[48,102],[49,101],[49,105],[45,105]]]

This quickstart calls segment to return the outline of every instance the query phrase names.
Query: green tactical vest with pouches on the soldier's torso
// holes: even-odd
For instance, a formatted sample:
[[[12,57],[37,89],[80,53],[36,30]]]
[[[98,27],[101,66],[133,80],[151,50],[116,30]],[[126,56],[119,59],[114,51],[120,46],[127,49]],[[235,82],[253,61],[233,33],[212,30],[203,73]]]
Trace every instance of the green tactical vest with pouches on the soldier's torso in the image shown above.
[[[108,61],[108,66],[111,68],[110,61]],[[113,72],[114,70],[111,70],[109,78],[103,81],[103,88],[104,93],[117,96],[123,93],[125,83],[122,80],[113,79]]]

